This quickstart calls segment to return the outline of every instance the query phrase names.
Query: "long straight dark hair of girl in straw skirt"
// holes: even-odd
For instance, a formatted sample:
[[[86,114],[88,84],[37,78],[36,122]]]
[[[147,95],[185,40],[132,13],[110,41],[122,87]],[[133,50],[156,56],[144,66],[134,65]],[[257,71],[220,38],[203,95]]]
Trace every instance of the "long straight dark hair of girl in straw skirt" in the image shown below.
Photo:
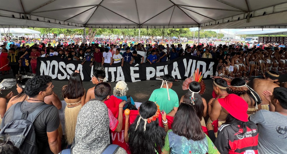
[[[66,88],[62,89],[62,97],[67,99],[77,99],[85,95],[85,89],[81,75],[72,73]]]

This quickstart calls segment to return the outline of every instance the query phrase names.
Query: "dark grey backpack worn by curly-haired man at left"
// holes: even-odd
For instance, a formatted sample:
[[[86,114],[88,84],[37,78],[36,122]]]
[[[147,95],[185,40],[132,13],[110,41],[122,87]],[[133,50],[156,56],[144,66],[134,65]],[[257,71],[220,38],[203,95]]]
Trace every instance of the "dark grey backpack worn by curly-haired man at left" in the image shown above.
[[[51,105],[43,104],[28,114],[22,111],[22,103],[15,104],[13,121],[6,124],[0,131],[0,141],[11,141],[20,149],[21,154],[36,154],[38,146],[33,122],[42,111]]]

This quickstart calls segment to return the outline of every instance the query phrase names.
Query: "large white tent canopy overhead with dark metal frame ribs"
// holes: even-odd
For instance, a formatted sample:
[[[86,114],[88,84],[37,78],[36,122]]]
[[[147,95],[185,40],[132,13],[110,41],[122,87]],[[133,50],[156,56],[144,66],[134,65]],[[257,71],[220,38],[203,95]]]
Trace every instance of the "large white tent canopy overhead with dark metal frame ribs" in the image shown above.
[[[0,27],[285,28],[287,1],[9,0],[1,2],[0,21]]]

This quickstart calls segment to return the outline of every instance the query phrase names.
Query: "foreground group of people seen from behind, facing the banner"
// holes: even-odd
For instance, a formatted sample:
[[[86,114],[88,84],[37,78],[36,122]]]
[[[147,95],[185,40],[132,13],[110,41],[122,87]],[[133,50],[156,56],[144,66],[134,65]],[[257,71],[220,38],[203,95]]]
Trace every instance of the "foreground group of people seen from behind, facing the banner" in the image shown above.
[[[117,154],[285,153],[287,89],[276,84],[279,74],[275,71],[263,75],[264,79],[253,80],[253,88],[244,78],[214,76],[213,99],[206,101],[201,95],[208,85],[198,70],[183,82],[182,89],[187,92],[181,97],[172,89],[174,77],[166,74],[159,78],[161,87],[136,108],[128,84],[118,81],[112,89],[99,63],[94,64],[91,80],[95,86],[88,90],[79,71],[71,74],[60,94],[65,106],[53,92],[50,76],[17,74],[19,94],[9,93],[0,99],[0,137],[4,140],[0,148],[23,153],[37,147],[39,153],[62,154],[102,153],[106,149]],[[39,108],[42,111],[37,113]],[[64,119],[58,113],[61,108]],[[138,114],[123,114],[126,108],[138,110]],[[14,129],[19,126],[18,119],[24,120],[23,114],[28,120],[29,114],[37,115],[32,120],[36,141],[29,148],[30,142],[9,138],[13,131],[24,131]],[[23,127],[24,123],[20,124]],[[123,132],[128,148],[113,144],[111,132]],[[31,134],[25,137],[30,139]],[[63,142],[65,148],[61,148]]]

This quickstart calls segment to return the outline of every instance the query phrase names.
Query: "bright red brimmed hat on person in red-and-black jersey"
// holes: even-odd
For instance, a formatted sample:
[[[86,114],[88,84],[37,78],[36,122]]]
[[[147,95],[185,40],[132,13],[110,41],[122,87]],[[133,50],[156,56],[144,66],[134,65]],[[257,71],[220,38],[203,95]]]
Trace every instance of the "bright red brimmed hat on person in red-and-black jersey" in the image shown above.
[[[248,121],[248,115],[246,113],[248,104],[241,97],[235,94],[229,94],[224,98],[218,99],[218,102],[234,118],[244,122]]]

